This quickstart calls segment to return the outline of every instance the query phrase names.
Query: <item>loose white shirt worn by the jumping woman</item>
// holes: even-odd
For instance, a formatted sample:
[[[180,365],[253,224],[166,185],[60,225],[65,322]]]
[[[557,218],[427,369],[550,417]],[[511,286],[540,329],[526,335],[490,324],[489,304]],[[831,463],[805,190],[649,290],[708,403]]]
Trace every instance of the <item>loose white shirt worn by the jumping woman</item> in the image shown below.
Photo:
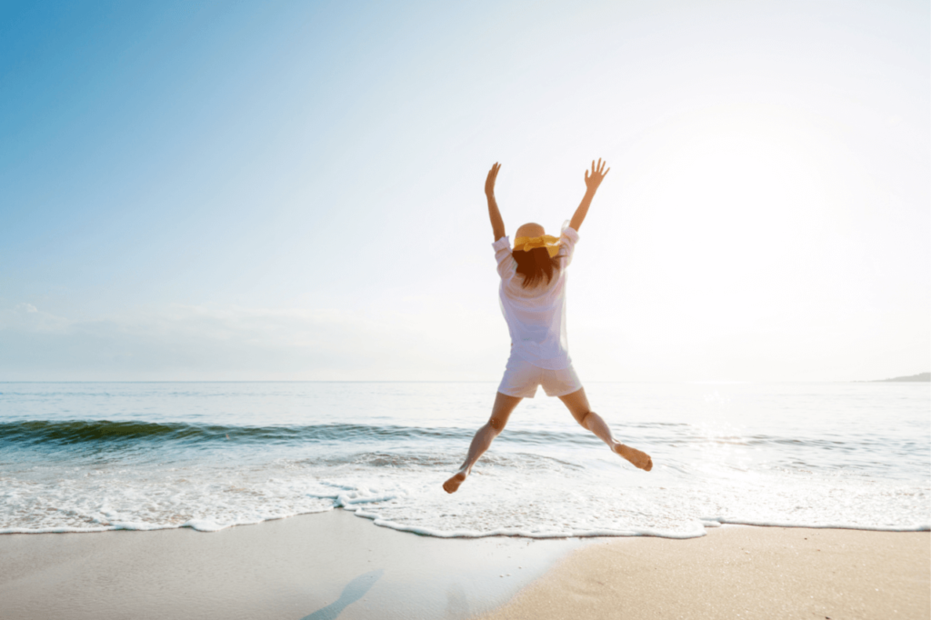
[[[523,288],[523,276],[517,273],[517,261],[511,256],[511,242],[503,236],[494,243],[494,258],[501,276],[501,312],[511,334],[511,354],[534,366],[552,371],[569,368],[569,345],[566,342],[566,267],[573,260],[579,234],[570,226],[562,229],[559,271],[548,284],[540,282]]]

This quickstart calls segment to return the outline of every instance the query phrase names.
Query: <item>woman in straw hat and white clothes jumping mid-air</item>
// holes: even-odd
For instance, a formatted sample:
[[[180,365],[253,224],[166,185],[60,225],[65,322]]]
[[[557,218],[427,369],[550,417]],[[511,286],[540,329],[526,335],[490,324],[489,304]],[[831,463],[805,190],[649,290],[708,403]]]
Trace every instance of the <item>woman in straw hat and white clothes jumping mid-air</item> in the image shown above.
[[[601,416],[591,411],[566,346],[566,267],[572,263],[578,230],[591,199],[611,169],[604,166],[600,159],[597,165],[591,162],[591,170],[585,173],[585,197],[559,238],[546,235],[538,223],[525,223],[518,228],[513,250],[494,199],[494,182],[501,166],[495,163],[488,172],[485,195],[494,232],[492,248],[501,276],[501,309],[511,335],[511,355],[494,398],[492,417],[472,439],[466,462],[443,483],[446,492],[454,493],[459,489],[479,456],[505,429],[507,419],[520,400],[533,398],[538,385],[543,385],[546,396],[559,397],[575,421],[608,444],[612,452],[636,467],[646,471],[653,469],[649,454],[616,440]]]

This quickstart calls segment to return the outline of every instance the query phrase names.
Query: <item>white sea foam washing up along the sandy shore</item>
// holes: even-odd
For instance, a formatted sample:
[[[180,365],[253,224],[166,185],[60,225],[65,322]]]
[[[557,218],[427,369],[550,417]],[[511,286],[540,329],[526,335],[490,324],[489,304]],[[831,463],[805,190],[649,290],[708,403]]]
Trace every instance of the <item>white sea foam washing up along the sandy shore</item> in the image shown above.
[[[290,465],[279,463],[277,467]],[[638,475],[633,471],[622,472],[618,478],[625,481]],[[926,493],[914,490],[886,489],[864,504],[856,488],[847,489],[844,498],[836,481],[832,482],[830,493],[822,493],[829,490],[818,489],[810,481],[807,488],[789,484],[774,493],[772,484],[696,491],[682,486],[651,488],[626,486],[617,481],[607,484],[607,475],[602,475],[602,479],[594,480],[548,478],[540,484],[522,478],[524,475],[517,472],[495,472],[468,480],[466,485],[473,488],[463,485],[458,497],[442,492],[441,479],[436,476],[410,472],[382,475],[383,479],[374,480],[381,484],[372,484],[371,478],[379,477],[369,476],[367,485],[358,483],[356,488],[352,488],[349,479],[309,481],[303,476],[287,480],[266,478],[250,486],[246,486],[249,483],[244,479],[223,484],[197,483],[191,480],[190,472],[185,472],[187,488],[179,488],[183,486],[179,478],[172,478],[164,484],[149,486],[103,484],[95,487],[100,495],[72,484],[47,488],[41,493],[31,488],[27,494],[4,479],[6,518],[19,516],[23,524],[10,524],[0,529],[0,533],[179,527],[216,532],[334,508],[352,511],[377,526],[443,538],[496,535],[692,538],[703,535],[705,528],[723,523],[884,531],[928,529],[927,521],[921,520],[923,503],[916,501],[916,497]],[[789,493],[789,489],[793,492]],[[851,519],[848,515],[843,519],[843,510],[826,511],[812,505],[811,498],[822,494],[832,494],[841,505],[857,501],[862,511],[859,518]],[[809,504],[807,509],[800,508],[803,502]],[[49,510],[48,506],[55,509]],[[727,507],[728,516],[708,516],[702,512],[702,508],[709,507]],[[785,514],[795,514],[796,518],[761,518]],[[893,515],[897,520],[892,520]]]

